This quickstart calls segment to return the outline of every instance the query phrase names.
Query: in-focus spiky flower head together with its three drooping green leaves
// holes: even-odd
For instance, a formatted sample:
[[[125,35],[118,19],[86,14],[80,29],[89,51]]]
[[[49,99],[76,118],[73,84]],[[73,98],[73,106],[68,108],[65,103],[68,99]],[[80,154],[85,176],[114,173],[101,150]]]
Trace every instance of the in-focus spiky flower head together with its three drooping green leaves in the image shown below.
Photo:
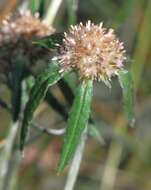
[[[51,38],[51,37],[50,37]],[[131,121],[133,118],[132,82],[128,71],[123,69],[125,50],[113,29],[107,30],[102,23],[95,25],[88,21],[71,26],[69,33],[64,33],[59,54],[52,59],[56,67],[49,67],[42,73],[31,91],[27,103],[21,130],[21,149],[28,132],[28,125],[33,112],[44,98],[49,86],[55,84],[65,73],[75,71],[79,77],[79,87],[64,136],[58,170],[61,172],[72,158],[90,115],[93,81],[103,81],[111,86],[112,76],[118,76],[123,89],[124,110]]]

